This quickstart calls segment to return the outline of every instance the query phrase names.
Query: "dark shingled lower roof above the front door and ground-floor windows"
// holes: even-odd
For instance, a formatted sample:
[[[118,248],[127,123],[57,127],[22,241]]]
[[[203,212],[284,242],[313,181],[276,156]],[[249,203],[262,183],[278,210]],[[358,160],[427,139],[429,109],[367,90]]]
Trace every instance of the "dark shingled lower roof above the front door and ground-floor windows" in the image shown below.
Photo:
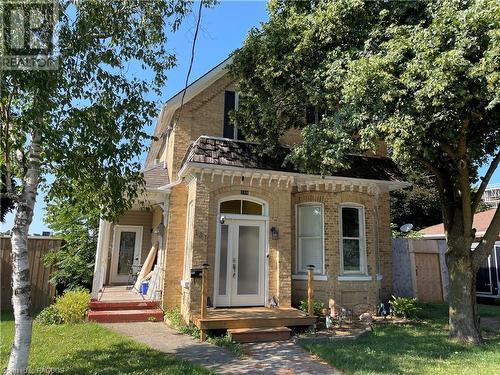
[[[185,163],[202,163],[237,168],[262,169],[300,173],[285,157],[290,152],[283,147],[273,156],[260,156],[257,145],[249,142],[224,138],[200,137],[189,148],[184,157]],[[332,172],[331,176],[404,182],[404,177],[396,164],[385,157],[349,155],[347,169]]]

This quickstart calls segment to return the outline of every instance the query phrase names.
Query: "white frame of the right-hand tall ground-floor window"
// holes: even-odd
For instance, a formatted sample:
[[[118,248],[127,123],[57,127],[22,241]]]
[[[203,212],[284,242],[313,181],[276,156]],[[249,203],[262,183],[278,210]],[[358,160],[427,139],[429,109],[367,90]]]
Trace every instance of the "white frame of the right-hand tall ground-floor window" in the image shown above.
[[[344,237],[343,235],[343,215],[344,208],[355,208],[359,213],[359,237]],[[359,270],[344,270],[344,240],[359,240]],[[368,276],[367,256],[366,256],[366,222],[365,206],[358,203],[342,203],[339,206],[339,247],[340,247],[340,275],[365,275]]]

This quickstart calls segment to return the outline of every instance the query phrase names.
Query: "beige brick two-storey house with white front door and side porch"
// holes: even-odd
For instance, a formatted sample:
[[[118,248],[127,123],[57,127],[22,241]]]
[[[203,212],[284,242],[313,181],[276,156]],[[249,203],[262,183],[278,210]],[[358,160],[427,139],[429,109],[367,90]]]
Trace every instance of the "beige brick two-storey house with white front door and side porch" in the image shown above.
[[[239,97],[230,61],[193,82],[182,108],[182,92],[163,106],[144,165],[146,193],[116,223],[100,223],[93,297],[112,301],[112,286],[132,282],[131,268],[153,264],[151,298],[200,326],[198,276],[208,264],[209,317],[225,323],[203,327],[284,312],[291,315],[282,325],[295,325],[292,317],[303,315],[292,307],[307,298],[314,265],[315,299],[326,306],[387,300],[389,192],[408,185],[401,173],[383,151],[352,155],[350,168],[332,175],[300,173],[284,163],[299,131],[280,139],[281,152],[259,156],[229,117]]]

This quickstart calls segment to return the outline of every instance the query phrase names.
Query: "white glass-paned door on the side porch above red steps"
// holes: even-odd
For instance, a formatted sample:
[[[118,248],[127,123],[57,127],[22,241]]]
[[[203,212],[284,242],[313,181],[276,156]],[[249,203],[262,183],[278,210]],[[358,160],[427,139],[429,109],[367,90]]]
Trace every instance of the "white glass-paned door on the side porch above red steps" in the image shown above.
[[[111,283],[129,281],[132,266],[139,267],[141,261],[142,227],[115,226],[113,253],[111,254]]]

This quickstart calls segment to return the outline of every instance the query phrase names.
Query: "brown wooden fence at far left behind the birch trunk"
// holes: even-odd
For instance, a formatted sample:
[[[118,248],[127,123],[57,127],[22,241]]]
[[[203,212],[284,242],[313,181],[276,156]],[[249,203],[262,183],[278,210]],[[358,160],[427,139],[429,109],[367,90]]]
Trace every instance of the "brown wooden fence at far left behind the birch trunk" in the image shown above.
[[[55,288],[49,283],[50,269],[43,257],[52,249],[59,249],[62,240],[51,237],[29,237],[28,253],[31,279],[31,307],[38,311],[53,302]],[[0,309],[12,310],[12,265],[10,237],[0,237]]]

